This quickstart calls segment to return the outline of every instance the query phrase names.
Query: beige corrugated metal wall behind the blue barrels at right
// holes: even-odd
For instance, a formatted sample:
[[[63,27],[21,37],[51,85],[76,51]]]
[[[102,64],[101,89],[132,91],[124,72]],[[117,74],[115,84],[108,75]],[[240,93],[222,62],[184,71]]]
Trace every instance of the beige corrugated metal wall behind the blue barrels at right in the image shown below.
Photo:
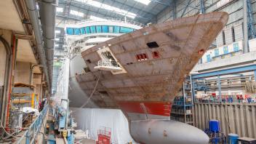
[[[199,129],[207,128],[209,119],[217,119],[225,135],[256,138],[256,104],[195,103],[193,111],[194,126]]]

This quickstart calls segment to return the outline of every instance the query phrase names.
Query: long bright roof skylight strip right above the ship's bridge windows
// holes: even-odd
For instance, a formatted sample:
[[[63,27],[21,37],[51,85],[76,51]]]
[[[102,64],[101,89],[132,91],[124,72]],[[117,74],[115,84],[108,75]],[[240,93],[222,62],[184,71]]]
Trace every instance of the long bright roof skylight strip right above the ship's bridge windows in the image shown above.
[[[132,19],[137,16],[135,13],[128,12],[128,11],[123,10],[123,9],[119,9],[117,7],[112,7],[108,4],[103,4],[103,3],[100,3],[98,1],[92,1],[92,0],[75,0],[75,1],[79,1],[81,3],[90,5],[92,7],[98,7],[100,9],[106,9],[106,10],[109,10],[111,12],[118,13],[119,15],[124,15],[124,16],[127,16],[127,17],[131,17]]]

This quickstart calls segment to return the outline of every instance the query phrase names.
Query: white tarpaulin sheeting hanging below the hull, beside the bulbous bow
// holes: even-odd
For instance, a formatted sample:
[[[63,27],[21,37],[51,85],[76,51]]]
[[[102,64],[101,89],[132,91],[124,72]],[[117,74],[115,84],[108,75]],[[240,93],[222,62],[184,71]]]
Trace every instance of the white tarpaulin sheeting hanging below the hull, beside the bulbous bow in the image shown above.
[[[97,130],[100,127],[111,128],[112,143],[133,142],[129,135],[127,118],[120,110],[100,109],[100,108],[70,108],[74,121],[77,123],[77,129],[84,132],[89,131],[89,137],[97,140]]]

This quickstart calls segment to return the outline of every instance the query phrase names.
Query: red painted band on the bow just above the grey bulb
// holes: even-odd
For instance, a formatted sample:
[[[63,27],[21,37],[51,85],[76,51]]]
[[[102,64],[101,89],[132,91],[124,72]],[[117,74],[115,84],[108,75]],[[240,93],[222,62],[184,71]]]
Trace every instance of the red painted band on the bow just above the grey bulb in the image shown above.
[[[127,113],[148,113],[170,116],[172,104],[161,102],[119,102],[121,109]]]

